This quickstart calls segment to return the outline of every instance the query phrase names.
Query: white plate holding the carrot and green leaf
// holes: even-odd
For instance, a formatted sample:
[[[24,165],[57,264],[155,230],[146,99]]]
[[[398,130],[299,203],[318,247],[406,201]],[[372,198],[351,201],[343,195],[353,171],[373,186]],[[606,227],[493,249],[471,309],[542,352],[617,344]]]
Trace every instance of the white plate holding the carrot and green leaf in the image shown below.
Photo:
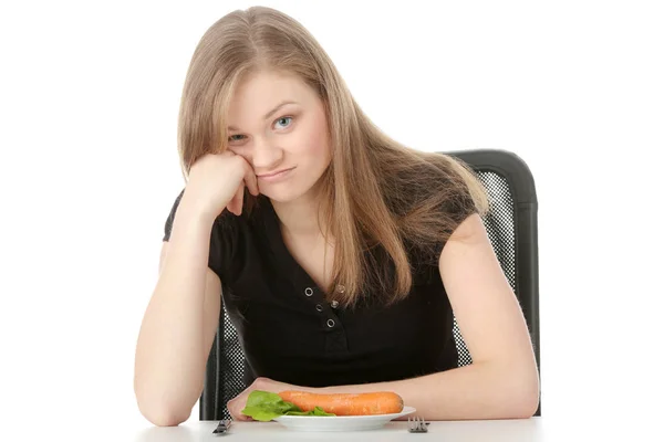
[[[401,413],[374,415],[280,415],[274,418],[283,427],[297,431],[360,431],[376,430],[393,419],[414,413],[404,407]]]

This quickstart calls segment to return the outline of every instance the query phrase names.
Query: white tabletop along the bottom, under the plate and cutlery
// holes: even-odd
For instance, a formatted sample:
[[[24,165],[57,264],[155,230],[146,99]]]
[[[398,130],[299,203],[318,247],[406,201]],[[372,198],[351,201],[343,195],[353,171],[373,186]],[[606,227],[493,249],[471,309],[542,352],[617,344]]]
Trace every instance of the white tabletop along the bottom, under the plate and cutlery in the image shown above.
[[[46,418],[50,414],[45,414]],[[588,442],[662,441],[660,419],[649,415],[559,415],[502,421],[430,422],[428,433],[408,433],[407,422],[393,421],[381,430],[362,432],[295,432],[277,422],[236,422],[226,435],[215,435],[218,421],[189,421],[158,428],[143,419],[18,420],[9,419],[0,441],[43,440],[68,442],[246,442],[246,441],[342,441],[342,442]]]

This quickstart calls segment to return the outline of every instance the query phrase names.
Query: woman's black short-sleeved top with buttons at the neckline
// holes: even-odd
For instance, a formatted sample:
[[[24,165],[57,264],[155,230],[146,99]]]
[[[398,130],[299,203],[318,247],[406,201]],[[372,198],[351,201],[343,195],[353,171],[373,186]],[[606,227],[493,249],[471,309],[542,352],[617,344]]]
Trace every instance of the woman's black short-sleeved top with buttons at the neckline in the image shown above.
[[[170,235],[178,196],[165,225]],[[209,267],[253,375],[307,387],[413,378],[455,368],[453,313],[437,262],[414,274],[388,307],[328,303],[287,249],[269,199],[251,217],[225,211],[210,234]],[[425,265],[425,264],[422,264]]]

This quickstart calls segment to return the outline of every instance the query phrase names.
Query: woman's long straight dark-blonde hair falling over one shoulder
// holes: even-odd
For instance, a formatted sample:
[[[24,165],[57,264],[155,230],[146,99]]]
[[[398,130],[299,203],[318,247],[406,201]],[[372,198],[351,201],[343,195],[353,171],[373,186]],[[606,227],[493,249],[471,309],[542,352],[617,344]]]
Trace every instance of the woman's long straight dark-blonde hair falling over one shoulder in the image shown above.
[[[227,148],[231,94],[243,75],[263,69],[299,75],[325,106],[332,161],[321,177],[320,215],[335,253],[332,281],[322,288],[343,306],[367,292],[387,304],[403,299],[416,266],[436,263],[454,229],[470,213],[486,211],[484,187],[467,165],[382,133],[307,29],[263,7],[225,15],[194,52],[178,120],[185,178],[198,158]],[[251,208],[253,197],[246,198]]]

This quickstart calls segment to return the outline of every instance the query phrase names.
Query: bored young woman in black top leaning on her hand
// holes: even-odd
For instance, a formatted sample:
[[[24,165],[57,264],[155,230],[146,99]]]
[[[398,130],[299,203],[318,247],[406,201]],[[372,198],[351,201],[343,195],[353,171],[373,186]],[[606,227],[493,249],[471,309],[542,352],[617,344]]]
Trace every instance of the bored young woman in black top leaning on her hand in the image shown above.
[[[189,66],[178,141],[187,182],[136,349],[146,419],[190,415],[221,303],[258,377],[228,403],[235,419],[255,389],[391,390],[429,420],[537,410],[481,185],[380,131],[299,22],[267,8],[216,22]]]

